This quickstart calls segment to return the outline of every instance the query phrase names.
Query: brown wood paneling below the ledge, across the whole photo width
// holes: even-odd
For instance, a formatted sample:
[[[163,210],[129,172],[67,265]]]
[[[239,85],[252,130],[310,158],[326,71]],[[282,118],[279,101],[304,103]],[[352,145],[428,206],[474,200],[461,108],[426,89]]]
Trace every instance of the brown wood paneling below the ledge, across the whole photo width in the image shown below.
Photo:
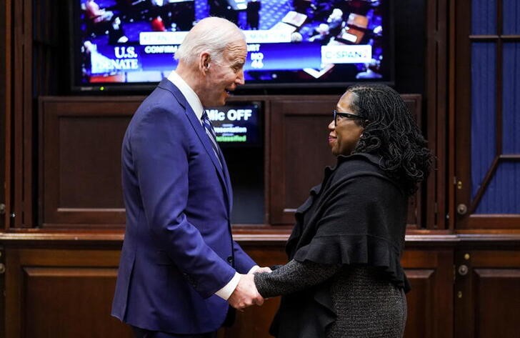
[[[93,232],[78,237],[61,232],[34,239],[2,236],[8,268],[6,337],[130,337],[124,324],[109,317],[122,235],[107,234],[104,240]],[[468,247],[472,239],[457,235],[435,237],[438,243],[427,237],[407,236],[401,260],[412,287],[406,296],[405,336],[516,337],[519,323],[511,316],[517,314],[520,299],[518,237],[508,247],[497,247],[504,238],[476,239],[478,243]],[[254,234],[240,229],[236,236],[262,266],[286,262],[286,238],[285,230]],[[462,262],[468,272],[457,272],[455,280]],[[234,327],[221,329],[219,337],[269,337],[278,304],[279,299],[269,299],[263,307],[239,312]],[[70,309],[69,314],[64,309]],[[76,312],[70,313],[73,309]],[[64,324],[69,321],[74,325]],[[80,329],[86,335],[78,334]]]

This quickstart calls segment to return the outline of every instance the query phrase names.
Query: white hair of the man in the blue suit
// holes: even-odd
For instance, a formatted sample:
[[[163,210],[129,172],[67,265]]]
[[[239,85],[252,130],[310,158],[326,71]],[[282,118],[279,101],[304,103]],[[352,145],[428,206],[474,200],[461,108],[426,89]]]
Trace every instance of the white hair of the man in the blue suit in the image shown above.
[[[208,51],[214,61],[220,62],[226,46],[245,39],[246,36],[236,24],[223,18],[210,16],[199,21],[186,34],[175,53],[175,59],[186,64],[194,64],[201,52]]]

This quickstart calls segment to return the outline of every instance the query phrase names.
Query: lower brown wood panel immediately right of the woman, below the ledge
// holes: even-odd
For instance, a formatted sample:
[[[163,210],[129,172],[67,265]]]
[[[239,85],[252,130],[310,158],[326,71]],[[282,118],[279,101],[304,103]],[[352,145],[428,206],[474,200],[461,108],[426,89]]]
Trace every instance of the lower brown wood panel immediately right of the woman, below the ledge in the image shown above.
[[[411,284],[404,337],[453,337],[453,250],[406,249],[401,264]]]

